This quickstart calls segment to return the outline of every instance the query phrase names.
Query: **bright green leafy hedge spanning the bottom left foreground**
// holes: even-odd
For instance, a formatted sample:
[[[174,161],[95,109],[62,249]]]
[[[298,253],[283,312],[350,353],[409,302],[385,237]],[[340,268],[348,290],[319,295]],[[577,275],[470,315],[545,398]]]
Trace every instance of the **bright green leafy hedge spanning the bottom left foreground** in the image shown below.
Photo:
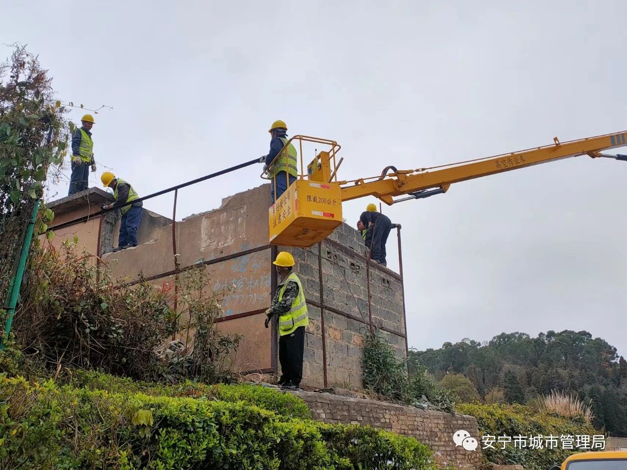
[[[431,451],[409,437],[241,401],[0,377],[0,468],[409,470],[431,469]]]

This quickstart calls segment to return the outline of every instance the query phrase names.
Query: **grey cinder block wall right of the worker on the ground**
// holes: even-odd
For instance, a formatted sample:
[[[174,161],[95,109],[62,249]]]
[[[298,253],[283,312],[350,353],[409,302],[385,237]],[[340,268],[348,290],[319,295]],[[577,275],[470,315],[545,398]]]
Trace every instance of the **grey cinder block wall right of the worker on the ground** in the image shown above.
[[[388,244],[396,243],[395,232]],[[406,357],[403,282],[397,273],[371,261],[369,311],[366,248],[356,229],[342,224],[320,247],[279,249],[293,254],[308,301],[303,384],[361,388],[364,337],[369,334],[371,316],[396,356]]]

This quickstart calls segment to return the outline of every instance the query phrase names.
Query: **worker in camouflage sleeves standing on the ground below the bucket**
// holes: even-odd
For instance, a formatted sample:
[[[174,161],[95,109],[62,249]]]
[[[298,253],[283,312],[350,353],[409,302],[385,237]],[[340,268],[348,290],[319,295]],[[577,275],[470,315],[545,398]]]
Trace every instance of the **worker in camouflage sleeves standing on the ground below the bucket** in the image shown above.
[[[296,273],[292,271],[294,258],[282,251],[273,261],[277,266],[280,283],[266,310],[265,326],[273,315],[278,318],[278,359],[281,363],[281,378],[278,382],[283,389],[300,388],[303,378],[303,352],[305,350],[305,328],[309,325],[305,292]]]

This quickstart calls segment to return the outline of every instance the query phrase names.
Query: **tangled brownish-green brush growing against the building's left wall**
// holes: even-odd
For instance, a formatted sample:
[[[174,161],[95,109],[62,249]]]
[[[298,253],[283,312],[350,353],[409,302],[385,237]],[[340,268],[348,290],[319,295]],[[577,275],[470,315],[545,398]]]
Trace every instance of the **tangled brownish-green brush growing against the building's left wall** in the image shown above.
[[[13,326],[25,355],[55,371],[96,369],[161,382],[231,380],[229,353],[241,336],[221,333],[216,320],[232,285],[211,289],[211,270],[202,264],[174,283],[152,285],[140,276],[127,285],[114,279],[110,266],[78,253],[77,243],[75,236],[59,249],[31,253]],[[175,333],[187,343],[172,343]]]

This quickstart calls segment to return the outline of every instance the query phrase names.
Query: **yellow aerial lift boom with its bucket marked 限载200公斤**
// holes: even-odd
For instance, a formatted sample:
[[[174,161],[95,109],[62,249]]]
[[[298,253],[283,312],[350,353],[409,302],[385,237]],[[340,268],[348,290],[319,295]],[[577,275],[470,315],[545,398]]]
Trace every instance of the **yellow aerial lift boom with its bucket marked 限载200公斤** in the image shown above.
[[[495,155],[440,167],[398,170],[386,167],[381,175],[356,180],[337,180],[342,160],[335,155],[340,146],[334,140],[296,135],[289,142],[300,142],[300,173],[298,179],[268,209],[270,243],[282,246],[312,246],[329,236],[342,223],[342,201],[375,196],[388,205],[408,199],[421,199],[446,192],[451,184],[503,173],[556,160],[589,155],[627,160],[627,155],[603,154],[604,150],[627,145],[627,131],[559,142],[511,154]],[[302,143],[328,145],[304,171]],[[282,152],[287,149],[287,144]],[[282,154],[277,156],[277,159]],[[287,162],[287,159],[284,159]],[[287,165],[287,163],[286,163]],[[285,169],[287,179],[287,167]],[[286,184],[288,182],[286,181]],[[276,180],[274,181],[276,187]],[[407,196],[394,199],[396,196]]]

